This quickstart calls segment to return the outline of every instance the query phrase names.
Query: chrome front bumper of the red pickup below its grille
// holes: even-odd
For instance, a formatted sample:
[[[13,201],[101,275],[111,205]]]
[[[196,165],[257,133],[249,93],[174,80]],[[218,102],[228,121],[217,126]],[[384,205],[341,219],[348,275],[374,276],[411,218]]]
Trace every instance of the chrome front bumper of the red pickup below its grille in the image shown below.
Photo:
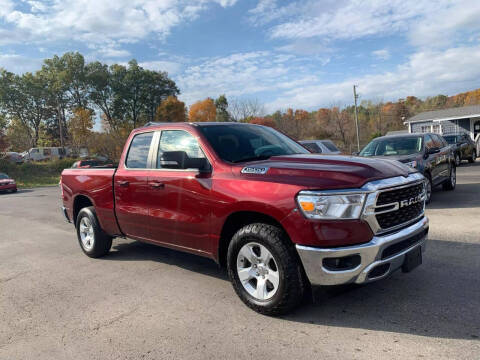
[[[424,252],[427,232],[428,219],[424,217],[413,225],[393,234],[374,236],[372,240],[366,244],[340,248],[315,248],[296,245],[296,248],[312,285],[363,284],[380,280],[401,268],[405,260],[405,255],[413,249],[420,246],[422,252]],[[382,254],[385,249],[393,244],[409,240],[415,235],[420,236],[420,238],[412,245],[402,248],[401,244],[398,244],[401,248],[400,251],[388,257],[384,256],[382,259]],[[348,270],[332,270],[325,267],[324,259],[326,258],[345,258],[353,255],[360,256],[360,262],[354,268],[349,268]],[[378,275],[379,271],[372,271],[374,269],[381,269],[381,274]]]

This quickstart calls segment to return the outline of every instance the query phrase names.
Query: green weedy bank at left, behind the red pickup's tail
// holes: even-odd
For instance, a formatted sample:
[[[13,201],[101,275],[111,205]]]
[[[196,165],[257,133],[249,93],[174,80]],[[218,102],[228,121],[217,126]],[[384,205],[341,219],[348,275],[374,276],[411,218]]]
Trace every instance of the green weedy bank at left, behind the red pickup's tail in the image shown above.
[[[0,160],[0,172],[15,179],[19,188],[57,185],[63,169],[69,168],[76,160],[63,159],[48,162],[27,162],[14,164]]]

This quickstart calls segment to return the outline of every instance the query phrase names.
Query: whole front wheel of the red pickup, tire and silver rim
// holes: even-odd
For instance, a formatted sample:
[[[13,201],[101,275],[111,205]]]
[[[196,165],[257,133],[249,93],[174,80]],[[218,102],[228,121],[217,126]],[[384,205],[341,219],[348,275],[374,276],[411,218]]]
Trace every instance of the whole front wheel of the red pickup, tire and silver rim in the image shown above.
[[[287,313],[303,299],[298,256],[276,226],[256,223],[241,228],[229,244],[227,267],[237,295],[261,314]]]

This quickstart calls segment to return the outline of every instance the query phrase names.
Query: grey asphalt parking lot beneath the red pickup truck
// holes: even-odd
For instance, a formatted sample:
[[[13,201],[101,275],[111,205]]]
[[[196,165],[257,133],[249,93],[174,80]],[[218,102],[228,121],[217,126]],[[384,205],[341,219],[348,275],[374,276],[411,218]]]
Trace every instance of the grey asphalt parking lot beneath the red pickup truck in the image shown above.
[[[0,195],[0,359],[479,359],[480,161],[427,208],[424,263],[315,289],[280,318],[210,260],[130,240],[81,252],[58,188]]]

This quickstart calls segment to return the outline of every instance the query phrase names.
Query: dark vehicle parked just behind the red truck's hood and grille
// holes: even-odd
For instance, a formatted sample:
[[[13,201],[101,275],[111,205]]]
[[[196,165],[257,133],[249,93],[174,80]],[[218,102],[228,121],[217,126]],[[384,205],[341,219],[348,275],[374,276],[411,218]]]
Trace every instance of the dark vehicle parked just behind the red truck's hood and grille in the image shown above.
[[[359,155],[398,160],[420,171],[427,180],[427,203],[434,186],[443,185],[444,190],[455,189],[457,172],[453,150],[438,134],[378,137],[368,143]]]

